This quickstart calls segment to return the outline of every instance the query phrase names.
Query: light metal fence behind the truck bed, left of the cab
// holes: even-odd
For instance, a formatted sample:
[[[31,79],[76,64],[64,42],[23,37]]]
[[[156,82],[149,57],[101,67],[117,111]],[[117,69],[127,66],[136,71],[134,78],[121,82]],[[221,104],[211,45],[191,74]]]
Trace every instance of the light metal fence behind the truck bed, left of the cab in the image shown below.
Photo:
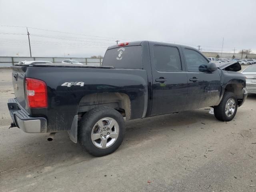
[[[10,68],[19,61],[50,61],[53,63],[61,63],[62,60],[74,59],[82,64],[89,66],[100,66],[102,58],[61,58],[61,57],[0,57],[0,68]]]

